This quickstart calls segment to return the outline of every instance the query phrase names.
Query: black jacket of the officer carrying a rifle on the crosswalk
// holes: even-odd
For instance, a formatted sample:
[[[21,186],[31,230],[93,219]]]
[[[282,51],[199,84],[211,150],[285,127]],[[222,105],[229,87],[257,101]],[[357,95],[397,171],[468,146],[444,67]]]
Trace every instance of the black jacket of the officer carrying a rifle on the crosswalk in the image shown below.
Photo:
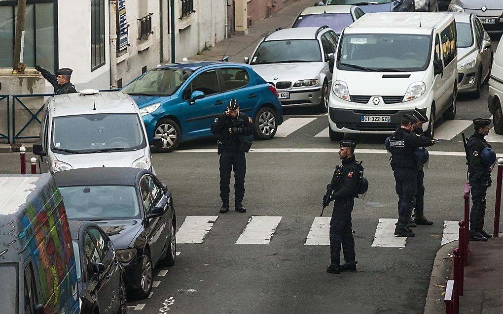
[[[355,159],[355,156],[343,159],[343,165],[339,168],[340,173],[336,177],[336,185],[332,199],[341,200],[355,198],[358,195],[357,184],[360,178],[360,165]]]

